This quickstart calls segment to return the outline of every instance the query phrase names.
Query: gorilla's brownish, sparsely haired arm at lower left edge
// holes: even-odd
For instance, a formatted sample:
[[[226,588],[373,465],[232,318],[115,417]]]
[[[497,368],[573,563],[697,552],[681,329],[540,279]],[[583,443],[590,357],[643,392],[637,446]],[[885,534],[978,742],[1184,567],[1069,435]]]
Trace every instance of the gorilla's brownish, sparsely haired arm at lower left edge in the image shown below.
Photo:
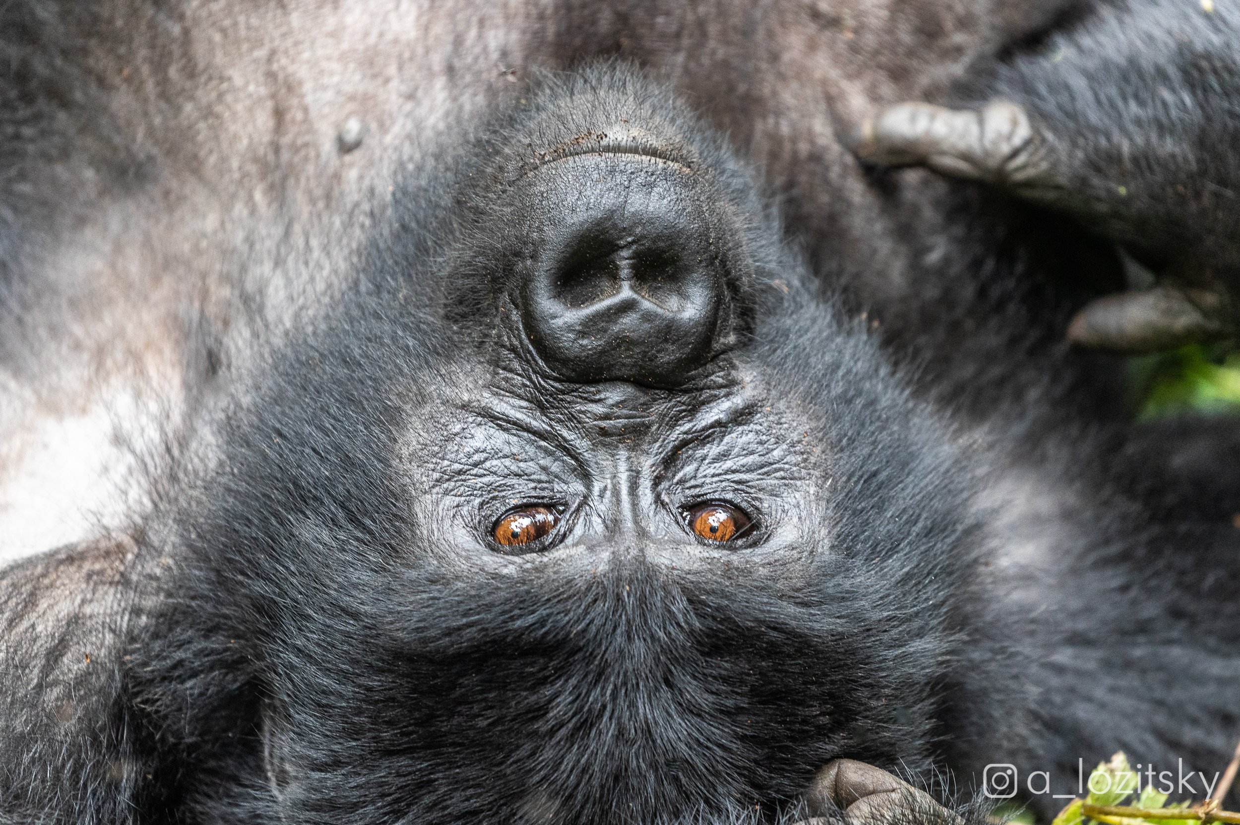
[[[139,770],[118,700],[134,557],[103,540],[0,571],[5,821],[130,821]]]

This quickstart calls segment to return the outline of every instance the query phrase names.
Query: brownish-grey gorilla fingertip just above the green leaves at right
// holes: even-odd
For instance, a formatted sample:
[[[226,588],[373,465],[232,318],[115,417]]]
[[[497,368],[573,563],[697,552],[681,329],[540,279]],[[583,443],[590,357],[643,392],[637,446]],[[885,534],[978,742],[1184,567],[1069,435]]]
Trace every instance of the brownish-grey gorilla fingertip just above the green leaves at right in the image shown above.
[[[1218,293],[1174,287],[1106,295],[1076,313],[1068,340],[1117,352],[1168,350],[1223,335],[1223,305]]]

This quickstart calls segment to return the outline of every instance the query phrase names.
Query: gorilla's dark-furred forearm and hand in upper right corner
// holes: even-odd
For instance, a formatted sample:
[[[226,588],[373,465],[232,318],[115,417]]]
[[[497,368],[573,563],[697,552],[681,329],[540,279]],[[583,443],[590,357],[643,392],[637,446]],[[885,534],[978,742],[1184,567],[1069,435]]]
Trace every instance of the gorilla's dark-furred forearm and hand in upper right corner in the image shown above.
[[[926,165],[1065,211],[1157,285],[1083,309],[1069,337],[1126,351],[1231,337],[1240,315],[1240,9],[1146,0],[1096,11],[1004,65],[972,109],[900,103],[857,154]],[[1131,253],[1128,256],[1127,253]],[[1137,277],[1131,277],[1136,273]]]

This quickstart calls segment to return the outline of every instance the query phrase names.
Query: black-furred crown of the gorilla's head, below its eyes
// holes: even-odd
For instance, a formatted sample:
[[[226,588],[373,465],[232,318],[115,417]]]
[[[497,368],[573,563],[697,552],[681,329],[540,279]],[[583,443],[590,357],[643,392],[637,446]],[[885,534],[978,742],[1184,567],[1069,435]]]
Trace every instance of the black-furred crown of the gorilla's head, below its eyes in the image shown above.
[[[688,573],[621,548],[591,563],[419,571],[367,604],[365,635],[330,640],[330,661],[316,633],[314,667],[267,710],[283,815],[725,821],[791,808],[806,765],[841,753],[894,762],[895,662],[858,638],[856,607],[799,603],[745,567]]]

